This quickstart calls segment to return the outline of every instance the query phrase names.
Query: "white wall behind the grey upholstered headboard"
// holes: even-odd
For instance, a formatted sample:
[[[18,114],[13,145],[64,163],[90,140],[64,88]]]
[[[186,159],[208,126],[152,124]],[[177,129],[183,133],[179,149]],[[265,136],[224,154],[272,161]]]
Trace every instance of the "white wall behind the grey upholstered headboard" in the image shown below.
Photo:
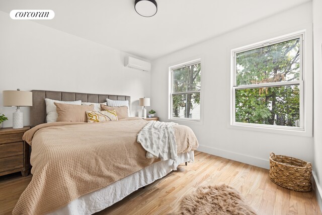
[[[138,98],[150,96],[150,73],[124,67],[127,53],[32,21],[12,20],[1,11],[0,26],[0,113],[9,118],[5,127],[12,126],[15,107],[3,107],[3,90],[128,95],[132,116],[141,109]],[[21,110],[24,125],[29,125],[29,108]]]

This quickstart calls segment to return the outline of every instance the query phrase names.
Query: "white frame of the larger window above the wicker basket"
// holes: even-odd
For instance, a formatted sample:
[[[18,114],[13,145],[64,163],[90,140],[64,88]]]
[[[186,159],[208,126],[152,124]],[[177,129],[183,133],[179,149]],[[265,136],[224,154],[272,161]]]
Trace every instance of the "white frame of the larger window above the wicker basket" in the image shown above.
[[[290,81],[290,82],[277,82],[277,83],[264,83],[264,84],[256,84],[256,85],[243,85],[237,86],[236,85],[236,54],[260,47],[265,47],[269,45],[273,45],[280,42],[285,42],[288,40],[300,38],[300,75],[299,81]],[[231,50],[231,116],[230,116],[230,125],[233,127],[240,127],[240,128],[259,128],[263,131],[270,130],[270,131],[277,131],[283,130],[284,131],[305,131],[305,114],[304,114],[304,68],[305,68],[305,31],[296,32],[293,34],[284,35],[281,37],[276,37],[273,39],[265,40],[259,43],[235,48]],[[235,90],[236,89],[252,89],[252,88],[259,88],[259,87],[277,87],[277,86],[288,86],[288,85],[298,85],[300,91],[300,126],[299,127],[290,127],[290,126],[283,126],[283,125],[267,125],[267,124],[255,124],[255,123],[246,123],[246,122],[236,122],[235,121]]]

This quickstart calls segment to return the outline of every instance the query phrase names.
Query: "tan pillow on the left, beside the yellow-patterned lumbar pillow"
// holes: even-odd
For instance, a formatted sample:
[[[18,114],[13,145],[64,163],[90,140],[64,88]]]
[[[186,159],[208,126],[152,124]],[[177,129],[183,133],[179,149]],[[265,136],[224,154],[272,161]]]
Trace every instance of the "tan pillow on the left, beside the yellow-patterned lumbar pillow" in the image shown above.
[[[57,122],[87,122],[86,111],[94,110],[94,105],[71,105],[54,102]]]

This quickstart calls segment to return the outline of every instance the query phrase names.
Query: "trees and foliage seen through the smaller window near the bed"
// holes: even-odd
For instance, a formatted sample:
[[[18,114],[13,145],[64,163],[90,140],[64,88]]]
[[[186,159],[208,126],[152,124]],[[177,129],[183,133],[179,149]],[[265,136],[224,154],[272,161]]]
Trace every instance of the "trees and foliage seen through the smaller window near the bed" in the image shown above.
[[[181,110],[184,110],[184,117],[189,118],[194,106],[200,104],[200,93],[189,92],[200,91],[200,84],[200,63],[173,70],[173,92],[182,93],[172,97],[174,117],[180,117]]]

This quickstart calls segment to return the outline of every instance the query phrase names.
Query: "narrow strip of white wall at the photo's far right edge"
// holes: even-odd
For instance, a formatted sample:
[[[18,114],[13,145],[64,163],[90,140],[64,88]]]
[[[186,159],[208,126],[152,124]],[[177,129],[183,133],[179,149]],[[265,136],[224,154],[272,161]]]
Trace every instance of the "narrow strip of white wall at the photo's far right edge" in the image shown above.
[[[313,0],[313,70],[314,70],[314,179],[322,210],[322,1]]]

